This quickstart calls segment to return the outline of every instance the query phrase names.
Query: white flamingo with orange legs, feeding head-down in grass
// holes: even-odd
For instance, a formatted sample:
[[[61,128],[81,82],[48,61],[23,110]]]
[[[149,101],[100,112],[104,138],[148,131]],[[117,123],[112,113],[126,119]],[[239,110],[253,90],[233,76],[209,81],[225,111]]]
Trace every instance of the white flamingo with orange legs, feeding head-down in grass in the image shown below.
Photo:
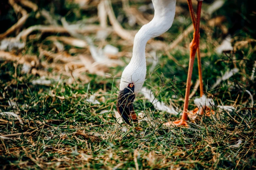
[[[200,97],[203,96],[202,69],[199,53],[199,27],[202,1],[203,0],[197,0],[197,11],[195,17],[195,13],[192,6],[192,0],[188,0],[189,11],[194,25],[194,34],[193,40],[190,43],[190,59],[183,113],[180,120],[166,122],[164,123],[164,125],[166,126],[174,124],[177,126],[188,127],[188,101],[196,51],[198,57],[197,61],[200,81]],[[134,112],[133,101],[138,92],[141,90],[146,77],[146,43],[149,39],[165,33],[172,26],[175,16],[176,0],[152,0],[152,2],[155,9],[154,18],[149,23],[143,25],[141,29],[138,31],[138,33],[135,35],[132,58],[130,63],[127,65],[127,67],[124,69],[122,73],[120,91],[116,102],[116,108],[118,113],[129,125],[131,125],[131,120],[133,122],[138,121],[136,114]]]

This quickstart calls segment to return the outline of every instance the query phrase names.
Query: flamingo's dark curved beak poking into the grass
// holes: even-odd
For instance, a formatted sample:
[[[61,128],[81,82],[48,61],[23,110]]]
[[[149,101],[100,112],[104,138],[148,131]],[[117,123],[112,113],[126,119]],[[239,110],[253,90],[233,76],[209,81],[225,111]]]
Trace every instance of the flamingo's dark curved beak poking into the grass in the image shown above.
[[[128,125],[131,125],[130,120],[138,121],[133,109],[134,98],[134,92],[128,88],[120,91],[117,97],[116,109]]]

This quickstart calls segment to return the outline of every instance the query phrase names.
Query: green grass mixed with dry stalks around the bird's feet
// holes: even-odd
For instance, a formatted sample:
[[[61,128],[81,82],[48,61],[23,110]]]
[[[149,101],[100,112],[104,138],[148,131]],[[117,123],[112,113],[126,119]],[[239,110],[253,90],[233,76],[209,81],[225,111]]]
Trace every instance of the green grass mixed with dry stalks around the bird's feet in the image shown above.
[[[71,16],[74,16],[73,13]],[[70,20],[75,19],[70,17]],[[163,39],[164,42],[170,43],[179,35],[179,24],[178,21],[174,22],[169,32],[176,34],[168,34],[170,39]],[[213,36],[208,34],[211,31]],[[190,128],[162,126],[163,122],[177,120],[180,115],[155,110],[142,94],[138,95],[134,108],[137,113],[144,112],[148,120],[132,127],[117,123],[114,111],[119,78],[85,73],[90,79],[88,83],[74,78],[75,81],[69,84],[66,75],[60,74],[60,79],[46,77],[52,82],[49,86],[34,85],[32,81],[38,79],[38,75],[24,74],[21,64],[0,60],[0,112],[18,112],[24,122],[22,125],[14,118],[1,116],[0,135],[33,132],[30,135],[0,138],[0,167],[255,169],[255,105],[251,106],[252,101],[246,92],[247,90],[254,95],[255,101],[255,78],[250,80],[256,60],[255,43],[248,43],[235,52],[219,55],[214,51],[215,43],[220,42],[220,36],[215,37],[219,30],[212,28],[211,31],[201,30],[201,52],[205,54],[202,58],[204,91],[213,98],[216,106],[234,106],[235,110],[226,112],[213,106],[215,115],[202,116],[197,119],[196,124],[190,123]],[[253,37],[244,30],[238,30],[232,35],[238,37],[234,38],[232,45],[241,40],[247,41],[251,36]],[[162,54],[155,71],[147,72],[145,86],[155,95],[158,94],[157,99],[167,105],[171,100],[177,107],[183,106],[189,57],[187,45],[191,38],[192,34],[177,49],[170,51],[184,68]],[[43,38],[31,44],[42,42]],[[109,43],[114,45],[116,42],[115,38],[110,38]],[[117,46],[120,50],[125,48],[119,44]],[[37,46],[26,47],[25,54],[38,55],[34,50],[37,51]],[[157,51],[157,54],[161,53],[162,51]],[[122,60],[129,61],[125,57]],[[198,78],[196,63],[197,61],[192,77],[194,84]],[[149,70],[151,64],[147,65]],[[232,68],[238,68],[239,72],[211,89],[216,79]],[[108,74],[120,76],[123,69],[121,66],[110,68]],[[158,75],[161,78],[164,76],[165,83],[177,80],[168,85],[168,88],[175,89],[176,97],[167,87],[159,87],[162,82]],[[92,100],[88,100],[92,96],[99,103],[94,104]],[[194,98],[197,96],[199,90]],[[189,109],[195,108],[194,98],[190,99]],[[242,143],[238,147],[232,147],[240,139]]]

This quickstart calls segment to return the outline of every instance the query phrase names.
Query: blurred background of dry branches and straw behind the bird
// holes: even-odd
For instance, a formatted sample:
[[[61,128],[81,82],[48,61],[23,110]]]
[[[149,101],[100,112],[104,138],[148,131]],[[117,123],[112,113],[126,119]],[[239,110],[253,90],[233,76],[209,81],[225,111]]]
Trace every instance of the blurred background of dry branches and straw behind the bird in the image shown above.
[[[192,2],[196,11],[197,1]],[[200,50],[205,85],[214,89],[222,76],[238,70],[239,80],[255,85],[255,6],[253,0],[203,2]],[[150,0],[2,0],[1,83],[9,86],[26,75],[22,81],[33,85],[93,82],[94,89],[110,90],[112,80],[103,78],[121,76],[132,56],[134,35],[153,14]],[[146,86],[160,83],[157,72],[170,81],[175,77],[177,86],[185,87],[192,37],[187,1],[178,0],[172,27],[146,45]],[[195,62],[194,85],[197,79]],[[119,81],[114,80],[115,87]],[[179,92],[182,98],[184,88]]]

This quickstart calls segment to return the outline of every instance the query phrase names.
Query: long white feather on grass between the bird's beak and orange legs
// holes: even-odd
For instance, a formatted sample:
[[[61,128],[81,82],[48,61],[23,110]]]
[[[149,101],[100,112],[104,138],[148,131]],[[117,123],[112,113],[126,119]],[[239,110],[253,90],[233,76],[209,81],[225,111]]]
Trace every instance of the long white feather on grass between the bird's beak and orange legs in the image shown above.
[[[148,99],[157,110],[166,111],[167,113],[173,115],[179,114],[179,112],[176,111],[172,105],[166,106],[162,101],[158,101],[158,99],[155,98],[154,94],[149,89],[142,87],[141,92],[144,94],[144,97]]]

